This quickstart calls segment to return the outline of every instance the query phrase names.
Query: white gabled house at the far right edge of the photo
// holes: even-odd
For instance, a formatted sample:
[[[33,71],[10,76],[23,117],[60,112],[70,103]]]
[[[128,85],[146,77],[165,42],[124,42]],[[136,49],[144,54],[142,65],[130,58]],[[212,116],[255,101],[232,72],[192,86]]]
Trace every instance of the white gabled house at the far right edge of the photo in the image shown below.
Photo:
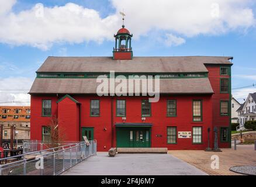
[[[256,120],[256,92],[249,93],[245,102],[237,109],[240,128],[243,130],[244,123],[249,120]]]

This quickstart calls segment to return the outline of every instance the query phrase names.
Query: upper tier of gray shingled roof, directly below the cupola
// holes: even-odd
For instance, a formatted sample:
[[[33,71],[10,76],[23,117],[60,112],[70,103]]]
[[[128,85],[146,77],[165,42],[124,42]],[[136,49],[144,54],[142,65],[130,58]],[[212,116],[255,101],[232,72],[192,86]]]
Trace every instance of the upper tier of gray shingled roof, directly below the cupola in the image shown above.
[[[203,64],[232,64],[231,57],[48,57],[37,72],[207,72]]]

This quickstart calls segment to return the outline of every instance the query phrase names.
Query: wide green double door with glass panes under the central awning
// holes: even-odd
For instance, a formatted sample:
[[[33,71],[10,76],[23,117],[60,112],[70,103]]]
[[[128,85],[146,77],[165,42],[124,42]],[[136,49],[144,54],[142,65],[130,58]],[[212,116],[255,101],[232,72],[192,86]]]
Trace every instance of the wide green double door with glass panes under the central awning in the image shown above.
[[[116,127],[117,147],[150,147],[150,128]]]

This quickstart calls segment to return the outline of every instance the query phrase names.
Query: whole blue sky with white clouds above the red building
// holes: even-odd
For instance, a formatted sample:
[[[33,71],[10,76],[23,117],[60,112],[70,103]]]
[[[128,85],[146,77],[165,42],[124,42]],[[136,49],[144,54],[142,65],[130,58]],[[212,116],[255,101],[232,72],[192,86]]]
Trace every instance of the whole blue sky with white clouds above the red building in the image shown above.
[[[195,10],[186,15],[189,9],[182,8],[182,3],[186,6],[188,0],[172,1],[172,4],[160,0],[157,4],[160,8],[151,0],[146,6],[132,1],[129,4],[117,0],[0,0],[0,6],[4,7],[0,8],[0,18],[3,17],[0,21],[0,105],[20,101],[24,101],[22,105],[29,104],[29,95],[24,93],[48,56],[112,56],[113,34],[122,25],[119,11],[123,9],[125,25],[134,34],[134,56],[233,56],[233,88],[256,83],[256,4],[253,1],[191,5],[195,9],[210,7],[211,10],[215,8],[212,5],[219,2],[220,15],[213,20],[207,16],[202,18],[207,12],[198,11],[196,15]],[[67,5],[69,2],[72,4]],[[34,18],[33,14],[42,6],[44,17]],[[166,6],[169,8],[165,11]],[[175,7],[173,11],[172,7]],[[169,15],[169,11],[173,15]],[[80,20],[77,12],[88,18]],[[182,15],[179,16],[179,12],[183,12]],[[74,27],[75,24],[78,26]],[[233,95],[243,101],[249,92],[256,92],[256,88],[234,90]],[[6,103],[11,101],[16,103]]]

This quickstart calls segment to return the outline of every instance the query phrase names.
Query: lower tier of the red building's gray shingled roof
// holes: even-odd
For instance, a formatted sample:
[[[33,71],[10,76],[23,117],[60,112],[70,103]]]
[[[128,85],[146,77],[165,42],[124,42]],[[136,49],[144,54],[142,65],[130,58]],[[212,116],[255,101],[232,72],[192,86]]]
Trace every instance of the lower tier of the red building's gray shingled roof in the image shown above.
[[[95,78],[36,78],[29,93],[96,93],[99,84]],[[160,79],[160,93],[213,93],[213,89],[208,78],[173,78]]]

